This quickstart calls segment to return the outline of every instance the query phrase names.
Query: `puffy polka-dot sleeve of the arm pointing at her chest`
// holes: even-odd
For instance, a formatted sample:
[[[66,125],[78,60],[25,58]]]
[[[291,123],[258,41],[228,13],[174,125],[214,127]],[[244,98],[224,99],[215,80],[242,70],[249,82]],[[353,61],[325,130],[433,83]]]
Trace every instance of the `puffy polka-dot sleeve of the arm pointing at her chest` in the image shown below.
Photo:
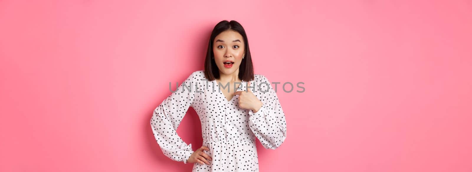
[[[260,100],[263,105],[255,113],[249,110],[249,127],[262,146],[276,149],[287,138],[285,113],[267,77],[262,76],[261,83],[254,83],[254,86],[261,92]]]

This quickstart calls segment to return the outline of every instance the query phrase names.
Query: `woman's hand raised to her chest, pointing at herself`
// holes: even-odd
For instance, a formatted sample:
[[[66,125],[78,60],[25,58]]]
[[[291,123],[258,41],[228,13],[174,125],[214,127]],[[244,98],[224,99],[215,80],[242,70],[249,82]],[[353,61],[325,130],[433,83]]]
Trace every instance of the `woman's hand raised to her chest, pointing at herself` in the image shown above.
[[[253,92],[251,92],[249,86],[251,86],[251,81],[247,82],[247,91],[236,91],[235,95],[239,95],[238,99],[240,108],[249,109],[255,113],[262,107],[262,102],[253,94]]]

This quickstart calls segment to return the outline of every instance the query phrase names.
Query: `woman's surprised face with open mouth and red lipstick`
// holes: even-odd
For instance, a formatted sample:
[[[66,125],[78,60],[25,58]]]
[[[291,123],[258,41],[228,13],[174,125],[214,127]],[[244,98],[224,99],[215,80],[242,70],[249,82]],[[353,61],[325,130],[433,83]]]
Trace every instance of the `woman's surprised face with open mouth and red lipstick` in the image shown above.
[[[213,54],[220,73],[235,73],[245,55],[243,36],[233,30],[221,32],[213,41]]]

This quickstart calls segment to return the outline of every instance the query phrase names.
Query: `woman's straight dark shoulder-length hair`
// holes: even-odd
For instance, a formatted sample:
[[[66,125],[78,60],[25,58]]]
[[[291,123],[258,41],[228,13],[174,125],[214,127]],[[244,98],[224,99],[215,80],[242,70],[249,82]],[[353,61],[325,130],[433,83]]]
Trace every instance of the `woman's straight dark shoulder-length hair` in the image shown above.
[[[242,81],[250,81],[254,80],[254,68],[253,68],[253,60],[251,59],[251,52],[249,51],[249,43],[247,40],[246,32],[244,31],[243,26],[239,24],[237,21],[228,20],[220,21],[216,26],[213,28],[211,32],[210,41],[208,42],[208,50],[205,58],[205,77],[207,80],[212,81],[219,78],[219,70],[218,66],[215,63],[215,60],[212,59],[215,55],[213,54],[213,41],[215,37],[220,34],[221,32],[233,30],[241,34],[244,39],[244,51],[245,56],[241,65],[239,66],[239,74],[238,77]]]

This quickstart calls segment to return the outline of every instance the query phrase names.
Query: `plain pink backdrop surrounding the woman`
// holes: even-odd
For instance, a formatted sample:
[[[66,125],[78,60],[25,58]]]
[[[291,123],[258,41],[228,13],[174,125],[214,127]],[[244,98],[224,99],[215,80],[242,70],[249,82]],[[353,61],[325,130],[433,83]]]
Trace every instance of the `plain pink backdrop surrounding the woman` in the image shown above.
[[[1,0],[0,171],[191,171],[149,120],[232,19],[257,74],[305,83],[261,172],[472,171],[470,0]]]

